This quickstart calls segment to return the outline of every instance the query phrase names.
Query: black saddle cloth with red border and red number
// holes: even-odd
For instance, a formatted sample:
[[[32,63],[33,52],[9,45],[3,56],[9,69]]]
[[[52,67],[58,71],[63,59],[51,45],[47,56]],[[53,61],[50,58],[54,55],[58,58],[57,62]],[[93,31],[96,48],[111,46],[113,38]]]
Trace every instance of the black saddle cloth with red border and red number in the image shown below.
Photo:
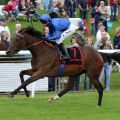
[[[81,47],[67,48],[67,52],[70,56],[70,59],[65,61],[65,65],[82,65],[83,64]]]

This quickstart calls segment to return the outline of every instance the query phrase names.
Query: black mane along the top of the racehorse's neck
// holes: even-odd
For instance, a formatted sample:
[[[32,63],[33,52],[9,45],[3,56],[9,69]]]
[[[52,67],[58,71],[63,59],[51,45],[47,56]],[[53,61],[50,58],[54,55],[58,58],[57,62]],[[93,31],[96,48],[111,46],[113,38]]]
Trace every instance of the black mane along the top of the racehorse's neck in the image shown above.
[[[34,36],[35,38],[41,38],[41,36],[43,35],[42,32],[35,30],[32,27],[27,27],[25,28],[25,33]]]

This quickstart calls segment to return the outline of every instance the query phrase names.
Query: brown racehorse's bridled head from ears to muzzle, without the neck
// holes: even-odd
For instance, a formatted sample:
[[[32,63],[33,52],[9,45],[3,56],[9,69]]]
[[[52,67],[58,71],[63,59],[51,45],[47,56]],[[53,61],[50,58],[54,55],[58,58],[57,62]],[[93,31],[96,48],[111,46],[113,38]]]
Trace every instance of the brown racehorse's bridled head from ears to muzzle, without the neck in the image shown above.
[[[8,48],[6,54],[8,56],[13,56],[14,54],[16,54],[17,52],[19,52],[20,50],[22,50],[25,47],[25,43],[24,43],[24,29],[20,30],[18,33],[14,34],[12,42],[10,44],[10,47]]]

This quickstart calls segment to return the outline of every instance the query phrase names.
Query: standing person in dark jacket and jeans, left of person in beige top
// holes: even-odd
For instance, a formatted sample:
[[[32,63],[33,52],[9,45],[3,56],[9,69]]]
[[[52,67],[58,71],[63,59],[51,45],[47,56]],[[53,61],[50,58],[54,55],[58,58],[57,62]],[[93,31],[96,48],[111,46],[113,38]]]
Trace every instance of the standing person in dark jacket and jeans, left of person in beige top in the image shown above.
[[[98,9],[98,5],[96,4],[95,7],[91,10],[91,19],[90,23],[92,25],[91,34],[96,35],[98,31],[98,23],[100,21],[101,13]]]

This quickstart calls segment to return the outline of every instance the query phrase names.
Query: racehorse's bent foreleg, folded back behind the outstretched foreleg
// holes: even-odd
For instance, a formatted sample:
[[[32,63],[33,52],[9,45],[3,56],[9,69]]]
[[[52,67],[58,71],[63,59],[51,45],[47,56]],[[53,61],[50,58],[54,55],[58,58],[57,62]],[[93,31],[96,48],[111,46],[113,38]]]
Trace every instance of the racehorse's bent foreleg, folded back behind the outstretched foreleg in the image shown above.
[[[24,75],[32,76],[32,69],[23,70],[23,71],[20,72],[19,76],[20,76],[20,79],[21,79],[21,84],[24,83],[24,77],[23,77]],[[29,97],[30,96],[30,91],[28,91],[26,87],[24,87],[23,89],[25,91],[26,96]]]

